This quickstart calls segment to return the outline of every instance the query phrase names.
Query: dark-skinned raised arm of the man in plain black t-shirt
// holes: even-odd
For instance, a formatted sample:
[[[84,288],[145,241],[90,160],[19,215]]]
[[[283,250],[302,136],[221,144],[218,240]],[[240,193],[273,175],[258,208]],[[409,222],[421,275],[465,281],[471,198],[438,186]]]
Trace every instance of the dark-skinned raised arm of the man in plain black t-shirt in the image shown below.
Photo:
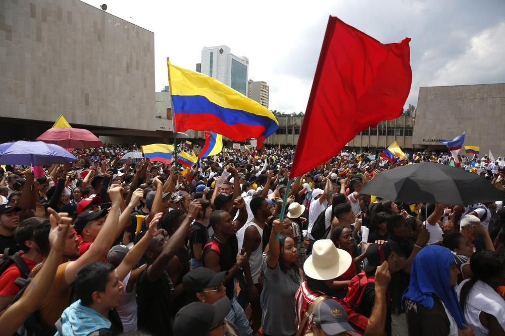
[[[150,282],[158,280],[163,272],[165,272],[170,259],[172,259],[175,253],[182,247],[189,226],[200,210],[201,204],[197,200],[193,200],[189,205],[189,212],[186,219],[184,219],[181,226],[179,226],[177,231],[170,237],[168,242],[163,245],[161,254],[156,258],[153,264],[147,267],[147,279]]]

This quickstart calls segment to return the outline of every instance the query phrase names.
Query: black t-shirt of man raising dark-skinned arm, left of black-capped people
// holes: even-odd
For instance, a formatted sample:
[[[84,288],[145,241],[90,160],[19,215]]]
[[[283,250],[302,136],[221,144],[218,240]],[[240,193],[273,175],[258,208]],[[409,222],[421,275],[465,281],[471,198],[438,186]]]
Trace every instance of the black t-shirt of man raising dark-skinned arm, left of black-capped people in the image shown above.
[[[174,286],[167,272],[155,282],[147,280],[147,268],[137,282],[138,330],[154,336],[172,335],[170,327],[172,291]]]

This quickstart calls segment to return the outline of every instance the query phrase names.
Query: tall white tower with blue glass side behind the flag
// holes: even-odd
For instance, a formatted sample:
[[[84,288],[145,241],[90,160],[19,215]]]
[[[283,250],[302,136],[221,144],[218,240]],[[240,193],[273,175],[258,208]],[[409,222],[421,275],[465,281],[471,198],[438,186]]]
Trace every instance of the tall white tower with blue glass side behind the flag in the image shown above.
[[[249,59],[235,56],[230,47],[218,45],[201,50],[200,72],[247,95]]]

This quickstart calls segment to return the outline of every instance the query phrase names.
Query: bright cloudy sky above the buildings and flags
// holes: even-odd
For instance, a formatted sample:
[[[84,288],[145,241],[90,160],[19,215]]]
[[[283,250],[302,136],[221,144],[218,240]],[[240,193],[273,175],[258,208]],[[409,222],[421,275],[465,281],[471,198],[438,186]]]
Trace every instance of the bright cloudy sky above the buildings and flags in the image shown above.
[[[505,82],[503,0],[99,1],[155,33],[157,91],[168,85],[167,56],[194,70],[201,48],[225,44],[270,85],[270,109],[305,111],[329,15],[383,43],[412,38],[406,106],[421,86]]]

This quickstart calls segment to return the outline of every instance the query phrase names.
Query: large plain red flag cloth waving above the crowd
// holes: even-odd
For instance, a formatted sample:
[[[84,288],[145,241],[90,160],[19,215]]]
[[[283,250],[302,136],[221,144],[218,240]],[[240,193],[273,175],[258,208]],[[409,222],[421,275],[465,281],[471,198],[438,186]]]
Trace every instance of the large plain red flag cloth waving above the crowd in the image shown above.
[[[409,41],[382,44],[330,16],[291,178],[333,158],[361,130],[401,115],[412,84]]]

